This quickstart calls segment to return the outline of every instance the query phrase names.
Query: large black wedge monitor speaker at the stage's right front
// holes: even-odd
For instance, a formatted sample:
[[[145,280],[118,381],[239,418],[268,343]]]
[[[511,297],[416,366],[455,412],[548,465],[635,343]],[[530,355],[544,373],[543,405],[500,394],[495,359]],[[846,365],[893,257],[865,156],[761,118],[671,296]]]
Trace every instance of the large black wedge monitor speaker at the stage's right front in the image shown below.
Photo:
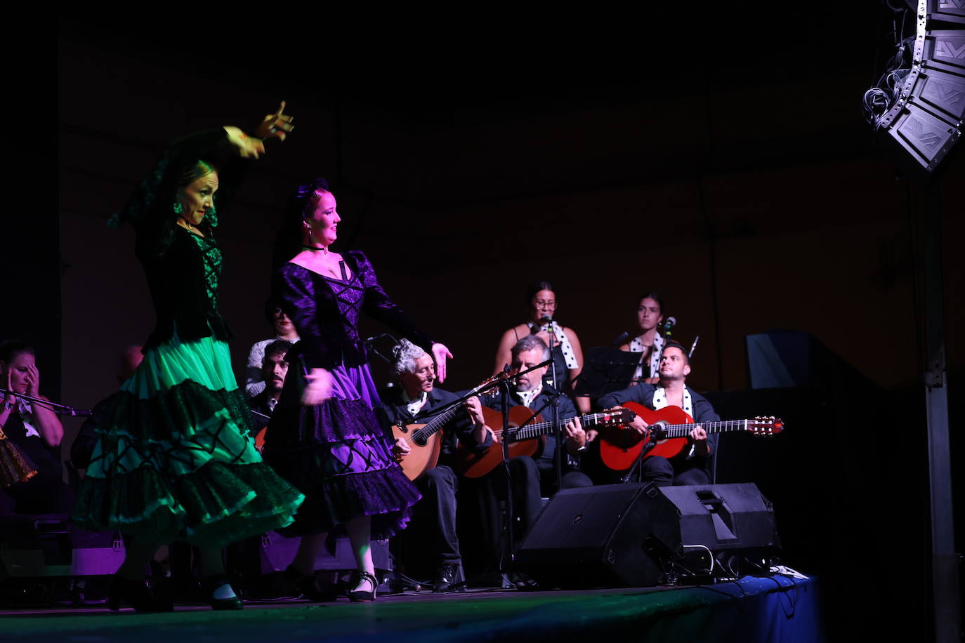
[[[516,553],[542,587],[648,587],[715,575],[722,552],[780,546],[771,503],[752,483],[566,489]]]

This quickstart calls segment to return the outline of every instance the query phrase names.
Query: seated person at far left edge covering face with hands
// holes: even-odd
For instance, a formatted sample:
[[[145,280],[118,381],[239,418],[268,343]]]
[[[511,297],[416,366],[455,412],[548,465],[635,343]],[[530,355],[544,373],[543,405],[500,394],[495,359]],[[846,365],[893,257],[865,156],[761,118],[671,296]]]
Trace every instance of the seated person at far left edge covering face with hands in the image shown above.
[[[34,349],[21,341],[0,344],[0,387],[47,399],[40,393],[41,374]],[[59,449],[64,426],[52,410],[7,393],[0,403],[0,431],[37,469],[26,482],[0,489],[0,514],[68,513],[73,492],[64,484]]]

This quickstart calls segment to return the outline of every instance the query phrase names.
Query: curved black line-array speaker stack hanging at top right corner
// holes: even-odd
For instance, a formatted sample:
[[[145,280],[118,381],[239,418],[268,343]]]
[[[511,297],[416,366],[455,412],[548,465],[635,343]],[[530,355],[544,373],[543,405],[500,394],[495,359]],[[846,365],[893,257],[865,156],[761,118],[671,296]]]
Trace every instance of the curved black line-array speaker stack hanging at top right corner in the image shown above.
[[[918,0],[911,67],[907,40],[879,85],[865,94],[874,129],[932,172],[961,138],[965,118],[965,0]],[[914,165],[914,164],[913,164]]]

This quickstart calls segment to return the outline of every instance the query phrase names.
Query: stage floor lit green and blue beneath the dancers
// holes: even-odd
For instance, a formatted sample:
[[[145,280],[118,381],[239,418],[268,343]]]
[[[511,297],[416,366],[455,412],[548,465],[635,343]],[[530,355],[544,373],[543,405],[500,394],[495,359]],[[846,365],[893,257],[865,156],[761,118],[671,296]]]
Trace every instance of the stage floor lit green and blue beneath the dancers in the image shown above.
[[[0,611],[4,641],[820,641],[815,580],[745,576],[714,585],[590,591],[471,590],[374,603],[246,602],[214,612],[106,607]]]

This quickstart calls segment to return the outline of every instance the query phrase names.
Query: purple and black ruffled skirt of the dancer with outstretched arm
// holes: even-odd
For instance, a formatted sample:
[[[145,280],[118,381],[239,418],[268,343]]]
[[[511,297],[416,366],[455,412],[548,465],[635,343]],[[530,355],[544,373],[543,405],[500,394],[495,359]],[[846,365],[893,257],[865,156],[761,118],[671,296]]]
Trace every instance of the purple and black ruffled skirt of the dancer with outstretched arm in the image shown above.
[[[329,369],[333,396],[300,403],[303,364],[291,364],[282,398],[265,434],[264,459],[305,495],[285,536],[338,532],[348,520],[372,517],[372,539],[390,538],[421,497],[392,455],[390,437],[373,408],[381,406],[368,365]]]

